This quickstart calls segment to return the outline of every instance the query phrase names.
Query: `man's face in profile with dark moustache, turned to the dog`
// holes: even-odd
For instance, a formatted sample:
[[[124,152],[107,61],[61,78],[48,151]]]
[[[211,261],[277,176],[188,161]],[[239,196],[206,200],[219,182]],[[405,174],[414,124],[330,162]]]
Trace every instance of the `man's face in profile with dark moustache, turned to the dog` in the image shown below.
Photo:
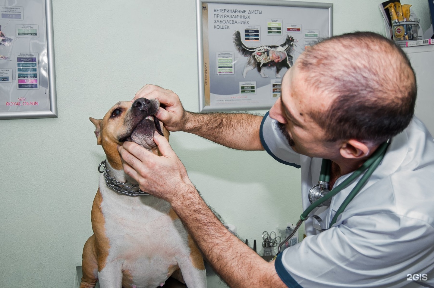
[[[306,84],[307,73],[299,73],[297,63],[283,76],[282,95],[271,107],[270,117],[277,120],[278,127],[292,149],[309,157],[332,158],[336,143],[325,141],[325,131],[312,120],[309,112],[327,111],[332,97],[319,93]],[[325,112],[326,113],[326,112]]]

